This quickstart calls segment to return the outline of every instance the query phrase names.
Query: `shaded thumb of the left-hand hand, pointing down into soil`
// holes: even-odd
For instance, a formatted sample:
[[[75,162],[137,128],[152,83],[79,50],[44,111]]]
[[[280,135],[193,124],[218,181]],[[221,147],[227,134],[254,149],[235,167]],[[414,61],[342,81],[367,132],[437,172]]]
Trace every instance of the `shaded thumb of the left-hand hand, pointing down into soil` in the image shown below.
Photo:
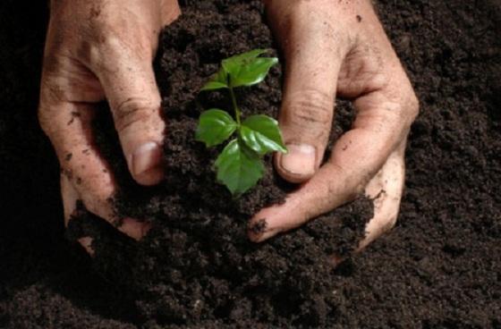
[[[105,46],[93,71],[111,105],[123,153],[132,177],[143,185],[162,180],[165,122],[149,55],[116,41]],[[146,52],[149,54],[149,52]]]

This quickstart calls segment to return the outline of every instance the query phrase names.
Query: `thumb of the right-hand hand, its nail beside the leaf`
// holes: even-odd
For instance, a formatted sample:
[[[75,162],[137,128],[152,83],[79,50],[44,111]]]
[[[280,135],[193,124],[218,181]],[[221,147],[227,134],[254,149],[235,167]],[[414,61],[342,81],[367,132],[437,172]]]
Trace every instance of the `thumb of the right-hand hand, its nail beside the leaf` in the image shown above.
[[[304,4],[304,3],[303,3]],[[328,11],[326,11],[328,12]],[[284,97],[279,122],[288,153],[276,154],[284,179],[301,182],[318,170],[327,146],[338,72],[346,52],[329,13],[316,4],[293,9],[276,27],[284,42]]]

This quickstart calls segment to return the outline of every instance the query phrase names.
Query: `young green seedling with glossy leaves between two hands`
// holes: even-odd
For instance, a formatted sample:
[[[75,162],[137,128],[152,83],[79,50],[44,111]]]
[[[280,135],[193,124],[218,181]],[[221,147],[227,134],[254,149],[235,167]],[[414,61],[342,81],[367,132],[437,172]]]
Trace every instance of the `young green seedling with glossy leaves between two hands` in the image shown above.
[[[274,151],[287,152],[276,120],[263,114],[243,119],[234,95],[235,88],[253,86],[265,80],[269,69],[278,63],[275,57],[259,57],[264,53],[264,49],[255,49],[226,58],[219,72],[201,89],[228,89],[232,100],[234,117],[218,108],[203,112],[195,138],[210,148],[236,133],[215,163],[217,181],[225,184],[234,196],[242,195],[263,176],[262,156]]]

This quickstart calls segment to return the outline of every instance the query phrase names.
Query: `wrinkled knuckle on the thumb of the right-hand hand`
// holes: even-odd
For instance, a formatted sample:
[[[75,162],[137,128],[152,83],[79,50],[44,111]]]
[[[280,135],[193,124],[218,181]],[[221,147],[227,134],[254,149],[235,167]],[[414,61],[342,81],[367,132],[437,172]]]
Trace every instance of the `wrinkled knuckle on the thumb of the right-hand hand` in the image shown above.
[[[301,91],[285,105],[284,123],[301,128],[326,128],[334,113],[334,96],[318,91]]]

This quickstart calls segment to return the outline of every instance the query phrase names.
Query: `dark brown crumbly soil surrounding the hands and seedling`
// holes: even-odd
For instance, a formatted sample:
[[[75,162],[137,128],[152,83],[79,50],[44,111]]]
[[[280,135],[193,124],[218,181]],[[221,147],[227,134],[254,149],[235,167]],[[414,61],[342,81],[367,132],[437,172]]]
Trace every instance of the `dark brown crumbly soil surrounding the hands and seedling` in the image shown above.
[[[259,2],[190,2],[164,32],[166,181],[140,189],[114,168],[118,210],[154,229],[135,243],[82,210],[66,235],[96,236],[94,260],[64,239],[58,165],[35,115],[47,10],[26,4],[0,4],[0,327],[501,327],[501,4],[379,2],[421,114],[398,224],[335,270],[327,255],[350,253],[369,200],[253,245],[250,215],[293,187],[267,159],[259,188],[232,200],[214,183],[217,151],[192,138],[202,108],[226,102],[197,95],[219,60],[274,47]],[[276,68],[242,90],[244,113],[276,115],[280,79]],[[351,122],[350,105],[338,107],[333,135]],[[99,145],[121,158],[101,112]]]

